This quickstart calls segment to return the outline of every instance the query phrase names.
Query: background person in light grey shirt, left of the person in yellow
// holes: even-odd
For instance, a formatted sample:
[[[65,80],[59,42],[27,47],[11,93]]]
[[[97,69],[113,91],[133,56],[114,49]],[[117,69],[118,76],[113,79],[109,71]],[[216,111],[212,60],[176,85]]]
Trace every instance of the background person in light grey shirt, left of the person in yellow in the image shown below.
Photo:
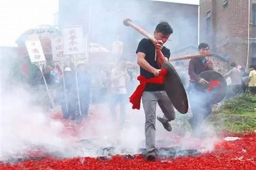
[[[232,97],[240,94],[242,92],[242,73],[237,68],[236,63],[231,63],[232,67],[226,74],[224,74],[224,78],[230,77],[231,79],[231,90],[232,90]]]

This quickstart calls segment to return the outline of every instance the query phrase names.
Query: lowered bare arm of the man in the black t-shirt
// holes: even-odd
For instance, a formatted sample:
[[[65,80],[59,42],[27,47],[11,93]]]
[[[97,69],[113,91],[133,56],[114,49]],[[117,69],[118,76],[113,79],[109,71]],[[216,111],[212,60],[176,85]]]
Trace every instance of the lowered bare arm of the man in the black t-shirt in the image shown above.
[[[143,69],[147,70],[148,72],[153,73],[156,77],[159,76],[159,69],[156,69],[155,67],[152,67],[146,60],[145,60],[146,54],[142,52],[137,53],[137,64],[142,67]]]

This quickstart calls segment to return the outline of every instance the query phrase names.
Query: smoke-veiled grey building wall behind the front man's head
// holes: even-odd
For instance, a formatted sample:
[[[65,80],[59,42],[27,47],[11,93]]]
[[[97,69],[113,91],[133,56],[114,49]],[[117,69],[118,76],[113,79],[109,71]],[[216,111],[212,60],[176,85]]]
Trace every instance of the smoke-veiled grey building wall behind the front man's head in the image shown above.
[[[124,57],[136,60],[138,41],[144,37],[124,26],[124,19],[130,18],[152,35],[160,21],[169,22],[174,33],[170,37],[172,41],[165,45],[176,51],[188,45],[197,46],[197,13],[196,5],[148,0],[63,1],[59,7],[59,24],[61,27],[82,24],[85,34],[90,34],[90,43],[98,43],[108,49],[119,37],[124,43]]]

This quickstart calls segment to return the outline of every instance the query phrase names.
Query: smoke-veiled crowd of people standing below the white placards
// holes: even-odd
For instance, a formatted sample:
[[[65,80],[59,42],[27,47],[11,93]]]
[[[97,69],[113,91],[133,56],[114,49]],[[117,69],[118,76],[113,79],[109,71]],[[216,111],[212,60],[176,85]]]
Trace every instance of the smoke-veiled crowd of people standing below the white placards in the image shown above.
[[[38,103],[45,111],[54,109],[45,92],[45,78],[54,106],[60,105],[64,119],[81,123],[88,116],[91,103],[109,105],[113,121],[117,117],[117,105],[120,106],[120,125],[125,122],[125,106],[128,95],[136,86],[136,68],[125,58],[118,57],[115,66],[108,68],[89,67],[84,61],[76,65],[65,64],[63,70],[59,65],[52,64],[43,68],[43,73],[35,71],[29,81]],[[99,70],[99,71],[93,71]],[[96,73],[97,72],[97,73]]]

